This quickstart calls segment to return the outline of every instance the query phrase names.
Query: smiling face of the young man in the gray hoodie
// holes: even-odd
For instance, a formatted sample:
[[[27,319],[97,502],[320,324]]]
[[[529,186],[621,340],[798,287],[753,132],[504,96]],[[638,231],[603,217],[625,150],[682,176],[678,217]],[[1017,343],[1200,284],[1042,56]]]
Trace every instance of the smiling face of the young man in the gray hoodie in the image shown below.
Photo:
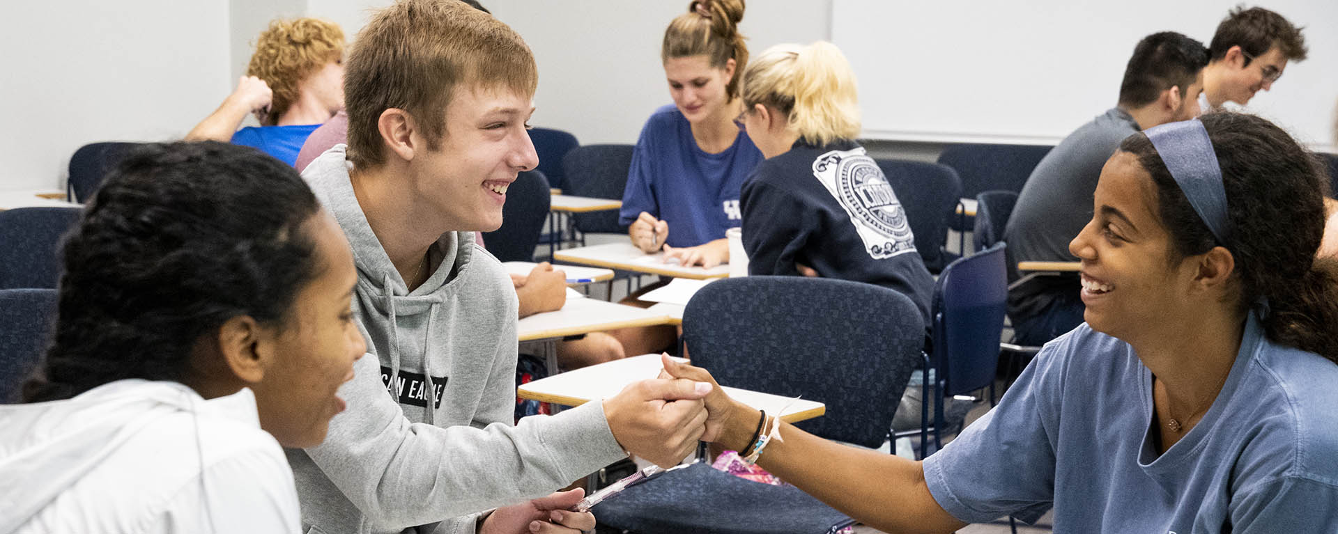
[[[531,95],[460,86],[444,114],[446,134],[438,149],[416,151],[409,162],[413,187],[442,214],[447,229],[496,230],[507,187],[518,173],[539,165],[526,131],[534,114]],[[415,146],[427,147],[419,131]]]

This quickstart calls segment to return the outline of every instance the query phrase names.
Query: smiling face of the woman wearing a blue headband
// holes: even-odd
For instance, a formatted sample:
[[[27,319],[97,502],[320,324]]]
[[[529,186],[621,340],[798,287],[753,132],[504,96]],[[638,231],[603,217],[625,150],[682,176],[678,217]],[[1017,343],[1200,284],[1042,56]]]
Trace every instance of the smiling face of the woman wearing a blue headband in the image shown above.
[[[1069,244],[1082,261],[1082,319],[1131,341],[1180,313],[1193,262],[1172,265],[1171,234],[1155,213],[1152,177],[1133,154],[1117,151],[1101,169],[1092,221]]]

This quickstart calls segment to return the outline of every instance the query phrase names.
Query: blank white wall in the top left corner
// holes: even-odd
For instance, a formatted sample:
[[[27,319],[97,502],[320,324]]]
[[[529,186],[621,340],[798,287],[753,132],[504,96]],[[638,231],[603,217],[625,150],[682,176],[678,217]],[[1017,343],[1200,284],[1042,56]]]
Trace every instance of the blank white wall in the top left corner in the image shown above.
[[[227,0],[7,3],[0,50],[0,189],[63,189],[90,142],[185,135],[235,84]]]

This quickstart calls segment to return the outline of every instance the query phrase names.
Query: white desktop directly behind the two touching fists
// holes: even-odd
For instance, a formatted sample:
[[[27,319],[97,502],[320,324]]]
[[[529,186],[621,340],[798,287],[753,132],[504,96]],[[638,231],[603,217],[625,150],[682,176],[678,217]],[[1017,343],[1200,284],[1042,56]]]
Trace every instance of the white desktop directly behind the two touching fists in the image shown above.
[[[660,355],[632,356],[522,384],[516,388],[516,396],[562,406],[581,406],[590,400],[618,395],[624,387],[633,381],[660,376],[661,369]],[[723,389],[735,400],[765,410],[768,414],[780,414],[780,419],[789,423],[827,414],[827,406],[815,400],[795,400],[728,385]]]

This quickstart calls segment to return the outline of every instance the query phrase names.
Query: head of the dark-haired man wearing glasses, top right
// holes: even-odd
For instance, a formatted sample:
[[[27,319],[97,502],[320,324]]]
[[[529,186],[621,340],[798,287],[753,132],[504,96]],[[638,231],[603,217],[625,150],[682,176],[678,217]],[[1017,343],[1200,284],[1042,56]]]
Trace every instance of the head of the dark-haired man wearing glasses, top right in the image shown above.
[[[1238,7],[1218,24],[1208,55],[1203,111],[1220,108],[1227,100],[1244,106],[1259,90],[1271,90],[1288,60],[1306,59],[1306,37],[1282,15]]]

